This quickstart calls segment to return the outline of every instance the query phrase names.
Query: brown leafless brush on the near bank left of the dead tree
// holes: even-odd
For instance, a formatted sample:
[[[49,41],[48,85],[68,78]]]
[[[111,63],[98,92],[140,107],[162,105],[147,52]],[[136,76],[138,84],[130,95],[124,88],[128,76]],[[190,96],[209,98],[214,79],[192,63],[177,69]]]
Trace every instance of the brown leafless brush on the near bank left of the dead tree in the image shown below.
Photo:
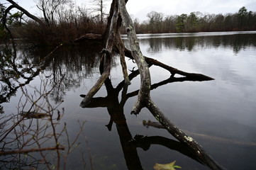
[[[57,45],[64,42],[73,42],[76,38],[87,33],[104,33],[106,18],[92,15],[87,8],[76,7],[72,1],[38,1],[38,8],[43,13],[43,18],[37,18],[30,13],[26,16],[32,18],[28,20],[18,20],[23,18],[25,9],[18,6],[14,1],[8,8],[1,5],[1,26],[0,37],[6,40],[9,38],[22,38],[26,42],[34,45]],[[11,8],[21,10],[16,18],[9,12]],[[101,20],[102,18],[102,20]],[[32,20],[31,20],[32,19]],[[15,22],[14,22],[15,21]],[[9,34],[5,33],[9,30]]]

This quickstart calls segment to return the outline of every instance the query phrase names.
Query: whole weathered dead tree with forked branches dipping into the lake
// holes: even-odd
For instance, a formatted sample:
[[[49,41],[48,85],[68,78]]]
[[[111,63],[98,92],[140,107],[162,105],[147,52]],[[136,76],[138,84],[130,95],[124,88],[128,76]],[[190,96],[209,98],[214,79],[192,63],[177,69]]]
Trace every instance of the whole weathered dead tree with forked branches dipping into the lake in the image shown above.
[[[104,35],[104,40],[106,40],[106,49],[103,50],[104,58],[111,57],[113,50],[116,50],[121,55],[121,64],[123,66],[123,75],[127,80],[127,72],[126,72],[126,64],[123,60],[123,55],[130,55],[132,57],[139,69],[140,72],[140,90],[138,92],[138,98],[133,106],[131,113],[138,114],[140,113],[142,108],[148,108],[148,110],[155,116],[155,118],[165,127],[165,129],[172,134],[177,140],[184,143],[191,152],[198,157],[203,164],[210,167],[211,169],[223,169],[219,166],[211,157],[206,154],[204,149],[199,145],[196,141],[194,141],[187,134],[179,130],[171,121],[165,117],[165,115],[160,111],[160,109],[155,105],[155,103],[150,98],[150,88],[151,88],[151,79],[150,79],[150,70],[148,67],[148,63],[155,64],[157,66],[163,67],[172,74],[181,74],[186,77],[204,77],[202,74],[187,74],[186,72],[182,72],[178,69],[174,69],[165,64],[157,62],[156,60],[149,59],[144,57],[142,52],[140,51],[140,45],[138,42],[138,38],[135,34],[135,29],[133,26],[133,22],[130,19],[128,12],[126,11],[126,0],[113,0],[111,4],[110,16],[108,18],[108,26],[106,27],[106,33]],[[130,44],[130,51],[126,50],[123,42],[121,41],[119,29],[120,23],[123,22],[123,25],[126,27],[128,42]],[[103,60],[102,60],[103,61]],[[108,61],[108,60],[107,60]],[[123,63],[124,62],[124,63]],[[101,64],[102,65],[102,64]],[[107,74],[109,75],[109,62],[104,62],[104,65],[107,69]],[[104,67],[104,68],[105,68]],[[106,69],[104,69],[106,71]],[[105,72],[104,71],[104,72]],[[95,86],[89,91],[87,96],[83,99],[80,106],[85,107],[91,100],[92,96],[99,90],[100,86],[106,80],[106,75],[102,74],[101,78]],[[205,79],[212,79],[211,77],[204,77]],[[128,81],[130,82],[130,81]]]

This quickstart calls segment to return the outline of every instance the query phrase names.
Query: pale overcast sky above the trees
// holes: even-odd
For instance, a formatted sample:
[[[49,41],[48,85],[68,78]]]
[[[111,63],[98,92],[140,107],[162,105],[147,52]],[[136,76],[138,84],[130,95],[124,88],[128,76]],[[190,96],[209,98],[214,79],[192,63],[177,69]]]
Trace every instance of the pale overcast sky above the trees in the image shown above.
[[[6,3],[5,0],[0,1]],[[39,15],[35,7],[35,1],[37,0],[15,1],[31,13]],[[107,1],[111,2],[111,0]],[[76,0],[76,2],[77,5],[88,6],[88,8],[91,4],[91,0]],[[8,6],[8,4],[5,4],[5,6]],[[150,11],[161,12],[165,15],[189,14],[194,11],[225,14],[235,13],[242,6],[245,6],[248,11],[256,11],[256,0],[128,0],[127,9],[133,18],[139,18],[140,21],[143,21],[147,19],[147,13],[150,13]]]

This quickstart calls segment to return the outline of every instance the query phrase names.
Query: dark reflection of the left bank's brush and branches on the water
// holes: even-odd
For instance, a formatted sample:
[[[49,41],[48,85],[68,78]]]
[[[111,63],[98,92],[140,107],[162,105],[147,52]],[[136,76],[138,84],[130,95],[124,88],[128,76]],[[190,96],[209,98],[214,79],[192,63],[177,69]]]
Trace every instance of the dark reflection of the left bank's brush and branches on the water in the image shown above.
[[[43,70],[52,74],[51,85],[55,87],[52,98],[55,102],[62,101],[65,91],[79,87],[82,79],[94,74],[94,68],[99,64],[99,50],[97,45],[87,45],[87,48],[58,47],[55,50],[16,47],[2,49],[0,103],[9,102],[17,89],[29,84]]]

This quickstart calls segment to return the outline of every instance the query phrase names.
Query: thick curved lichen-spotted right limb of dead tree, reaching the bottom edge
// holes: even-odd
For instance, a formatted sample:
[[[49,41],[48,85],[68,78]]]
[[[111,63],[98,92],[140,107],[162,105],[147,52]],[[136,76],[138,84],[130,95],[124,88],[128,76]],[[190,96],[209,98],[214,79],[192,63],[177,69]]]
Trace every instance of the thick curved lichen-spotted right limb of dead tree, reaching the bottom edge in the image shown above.
[[[121,16],[123,18],[123,23],[126,26],[126,31],[128,35],[128,41],[130,43],[130,49],[133,58],[135,59],[138,69],[140,71],[140,91],[138,94],[138,99],[133,106],[132,113],[138,114],[143,107],[148,108],[148,110],[155,116],[155,118],[166,128],[166,130],[172,134],[177,140],[184,143],[191,149],[191,151],[199,157],[201,162],[206,164],[211,169],[222,169],[221,166],[216,164],[216,162],[211,159],[211,157],[206,154],[204,149],[196,141],[194,141],[187,134],[179,130],[170,120],[165,117],[165,115],[160,111],[160,109],[155,105],[155,103],[150,98],[150,72],[148,64],[145,61],[145,57],[140,51],[140,46],[138,39],[135,34],[135,29],[133,22],[130,19],[128,12],[126,11],[125,0],[118,0],[120,5]]]

